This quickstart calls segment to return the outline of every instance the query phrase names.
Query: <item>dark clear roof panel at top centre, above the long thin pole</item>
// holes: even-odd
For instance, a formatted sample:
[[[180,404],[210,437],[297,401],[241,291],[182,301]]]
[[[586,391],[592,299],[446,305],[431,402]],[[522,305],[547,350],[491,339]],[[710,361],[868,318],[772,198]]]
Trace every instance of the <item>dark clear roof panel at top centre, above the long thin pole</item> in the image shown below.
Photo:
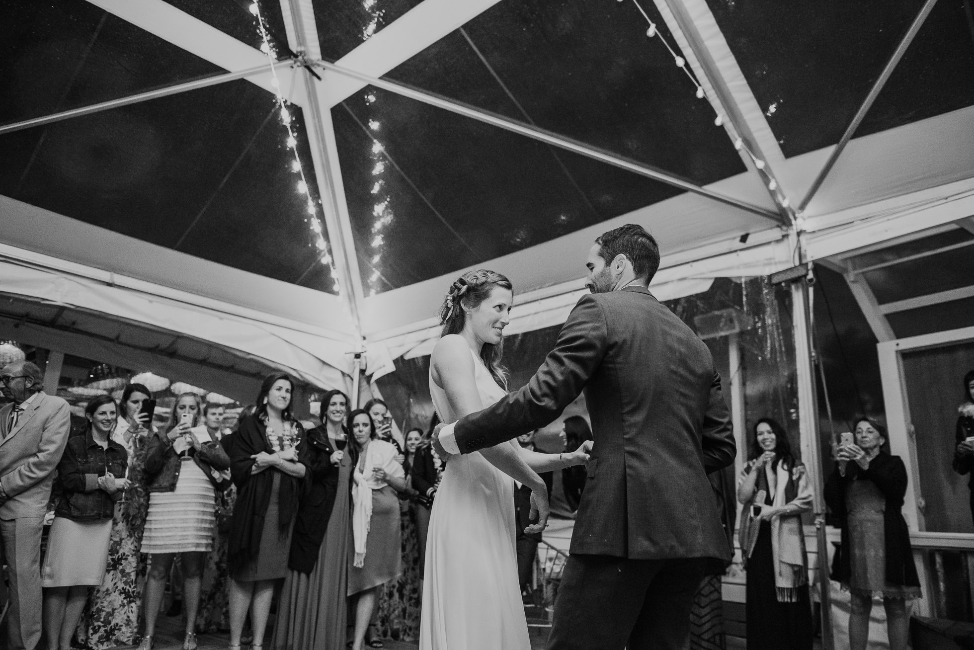
[[[680,55],[656,7],[642,6]],[[502,0],[385,78],[697,184],[745,172],[686,70],[629,3]]]

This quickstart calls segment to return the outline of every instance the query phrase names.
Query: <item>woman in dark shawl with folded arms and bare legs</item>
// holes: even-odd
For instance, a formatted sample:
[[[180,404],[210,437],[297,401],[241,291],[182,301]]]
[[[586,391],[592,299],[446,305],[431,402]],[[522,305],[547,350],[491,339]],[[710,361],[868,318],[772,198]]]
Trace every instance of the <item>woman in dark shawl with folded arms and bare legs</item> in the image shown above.
[[[273,372],[260,385],[253,414],[234,434],[230,471],[237,504],[230,520],[230,648],[241,647],[250,610],[253,642],[264,632],[275,588],[287,575],[287,549],[307,468],[298,459],[304,430],[291,414],[294,382]]]

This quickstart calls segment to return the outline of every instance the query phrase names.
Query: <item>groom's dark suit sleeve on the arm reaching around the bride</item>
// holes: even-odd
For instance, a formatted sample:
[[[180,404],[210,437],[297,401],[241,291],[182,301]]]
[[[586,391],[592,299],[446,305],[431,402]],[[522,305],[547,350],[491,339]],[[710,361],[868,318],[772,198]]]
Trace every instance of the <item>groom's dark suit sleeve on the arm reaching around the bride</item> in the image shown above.
[[[457,422],[454,435],[460,450],[470,453],[548,425],[579,397],[607,349],[602,307],[594,296],[584,295],[527,386]]]

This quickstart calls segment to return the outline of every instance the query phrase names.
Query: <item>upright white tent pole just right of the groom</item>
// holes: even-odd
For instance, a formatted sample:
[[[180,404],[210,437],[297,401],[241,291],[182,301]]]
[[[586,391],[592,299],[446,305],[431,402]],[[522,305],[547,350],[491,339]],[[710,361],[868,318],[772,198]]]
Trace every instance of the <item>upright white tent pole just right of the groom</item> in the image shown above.
[[[792,231],[798,240],[800,261],[805,262],[805,235]],[[810,267],[809,267],[810,273]],[[800,278],[791,286],[792,328],[795,336],[795,365],[798,376],[799,427],[802,436],[802,452],[809,468],[814,493],[815,537],[818,542],[818,584],[821,604],[822,649],[833,650],[835,638],[832,629],[832,584],[829,579],[829,544],[825,535],[824,471],[821,437],[818,432],[818,391],[815,385],[815,346],[812,332],[814,321],[811,313],[811,297],[808,278]]]

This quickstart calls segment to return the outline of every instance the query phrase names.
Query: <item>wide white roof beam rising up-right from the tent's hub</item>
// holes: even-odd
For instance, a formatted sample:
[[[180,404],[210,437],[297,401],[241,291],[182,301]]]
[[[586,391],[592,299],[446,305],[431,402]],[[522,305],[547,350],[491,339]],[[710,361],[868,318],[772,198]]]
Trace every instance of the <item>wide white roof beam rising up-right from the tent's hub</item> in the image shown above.
[[[500,0],[424,0],[336,63],[370,77],[381,77],[498,2]],[[311,2],[299,4],[311,6]],[[314,20],[311,23],[314,26]],[[318,50],[317,38],[314,48]],[[311,49],[308,54],[319,58],[313,56]],[[326,71],[323,79],[326,90],[321,96],[321,105],[328,108],[355,95],[368,84],[331,71]]]

